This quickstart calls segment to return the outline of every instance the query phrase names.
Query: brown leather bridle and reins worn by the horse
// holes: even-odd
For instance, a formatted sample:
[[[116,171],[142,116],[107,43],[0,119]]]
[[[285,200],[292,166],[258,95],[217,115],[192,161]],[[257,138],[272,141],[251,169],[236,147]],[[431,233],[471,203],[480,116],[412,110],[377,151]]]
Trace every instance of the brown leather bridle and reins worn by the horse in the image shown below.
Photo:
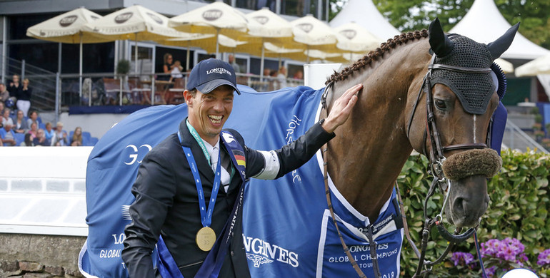
[[[428,72],[426,73],[426,76],[424,76],[424,79],[422,81],[418,96],[416,97],[416,101],[414,103],[413,110],[411,111],[411,115],[410,115],[409,121],[408,121],[409,125],[407,127],[407,134],[406,134],[407,137],[409,138],[409,141],[410,141],[409,134],[411,132],[411,124],[412,124],[412,121],[414,119],[414,115],[416,113],[416,108],[419,105],[422,92],[424,91],[424,87],[426,87],[426,89],[427,89],[427,91],[425,91],[425,94],[426,94],[426,129],[424,130],[424,140],[423,140],[424,143],[422,145],[422,148],[423,148],[424,155],[426,155],[426,157],[428,157],[429,160],[430,160],[429,168],[430,168],[431,174],[434,175],[434,180],[431,182],[431,186],[430,186],[429,191],[426,194],[426,198],[424,200],[424,228],[422,230],[422,240],[421,240],[421,250],[420,251],[416,247],[416,244],[414,244],[414,242],[411,240],[411,237],[409,235],[409,230],[408,230],[408,227],[406,225],[406,217],[405,217],[405,213],[404,213],[404,204],[401,200],[401,193],[399,192],[399,187],[397,187],[397,182],[396,182],[397,196],[399,196],[399,207],[401,208],[401,215],[404,218],[405,235],[407,237],[407,240],[411,244],[411,247],[414,250],[414,252],[416,254],[416,257],[419,258],[419,265],[416,268],[416,272],[415,272],[413,277],[419,277],[422,274],[424,274],[424,275],[429,274],[429,272],[431,272],[431,268],[434,265],[443,262],[443,260],[446,258],[447,254],[449,254],[449,252],[451,251],[451,249],[454,247],[455,244],[458,244],[459,242],[464,242],[465,240],[467,240],[472,235],[474,235],[474,238],[476,239],[475,240],[476,249],[478,250],[478,257],[479,257],[479,260],[481,262],[481,256],[480,256],[480,253],[479,253],[479,244],[477,242],[477,237],[476,237],[477,227],[469,228],[468,230],[466,230],[466,232],[463,232],[462,234],[460,234],[461,228],[457,228],[454,231],[454,234],[451,234],[449,231],[446,230],[446,228],[443,225],[443,221],[442,221],[443,216],[442,215],[444,213],[447,200],[449,199],[449,191],[450,191],[450,187],[451,187],[451,182],[450,182],[450,180],[448,180],[445,177],[444,172],[442,170],[442,165],[444,163],[444,160],[446,160],[446,157],[444,155],[444,153],[446,151],[489,148],[490,147],[490,139],[491,139],[490,138],[490,130],[491,130],[492,120],[489,123],[489,128],[487,130],[486,143],[465,143],[465,144],[442,146],[441,145],[441,135],[439,133],[439,130],[437,129],[436,119],[435,119],[435,115],[434,115],[434,97],[431,95],[431,91],[432,91],[431,72],[433,70],[436,70],[436,69],[441,69],[441,70],[447,70],[447,71],[455,71],[455,72],[459,72],[459,73],[491,73],[492,69],[491,68],[468,68],[468,67],[460,67],[460,66],[449,66],[449,65],[434,63],[435,58],[436,58],[436,54],[434,53],[431,56],[431,60],[430,60],[430,63],[428,65]],[[327,113],[328,113],[328,109],[327,109],[327,103],[326,103],[326,96],[328,95],[329,88],[331,88],[332,86],[333,86],[333,83],[332,82],[329,83],[326,86],[323,95],[321,96],[322,108],[324,108],[324,110],[326,110]],[[427,145],[426,140],[429,140],[429,144],[430,144],[430,147],[431,147],[431,148],[429,148],[429,153],[428,153],[428,150],[426,150],[426,145]],[[327,162],[326,162],[328,155],[326,153],[326,150],[327,150],[327,145],[324,145],[324,147],[322,148],[322,153],[323,153],[323,157],[324,157],[324,182],[325,182],[325,188],[326,188],[327,204],[329,206],[329,210],[331,212],[331,216],[333,218],[334,225],[336,226],[336,231],[338,232],[338,235],[340,237],[342,247],[344,248],[344,252],[346,252],[346,256],[349,258],[349,262],[351,263],[352,267],[354,267],[354,269],[356,270],[359,277],[366,277],[365,274],[361,271],[361,269],[357,265],[357,263],[356,263],[355,259],[353,258],[353,256],[351,256],[351,253],[349,252],[349,249],[346,246],[346,243],[344,242],[343,237],[342,237],[342,235],[339,231],[339,227],[336,223],[336,220],[334,219],[334,210],[333,210],[332,204],[331,204],[330,190],[329,190],[329,185],[328,185],[328,170],[327,170],[328,165],[327,165]],[[436,187],[438,187],[438,186],[440,187],[441,191],[444,192],[444,195],[445,195],[444,196],[444,204],[441,207],[441,212],[438,215],[436,215],[436,217],[431,218],[431,217],[428,216],[428,213],[427,213],[428,201],[429,201],[429,198],[434,195],[434,193],[436,191]],[[441,235],[441,237],[444,237],[444,239],[449,242],[449,245],[446,247],[445,251],[441,254],[441,256],[439,256],[439,258],[437,258],[434,262],[431,262],[429,260],[426,260],[425,257],[426,257],[427,244],[429,242],[429,233],[430,233],[431,228],[434,227],[434,226],[436,226],[436,228],[437,228],[439,234]],[[372,239],[372,235],[369,238],[369,244],[376,244],[376,242],[372,241],[371,239]],[[371,248],[371,250],[375,250],[375,249],[376,248]],[[372,255],[371,257],[376,258],[376,254]],[[379,272],[378,262],[376,261],[376,259],[373,259],[373,266],[374,266],[374,273],[375,273],[376,277],[381,277],[380,272]],[[424,272],[422,271],[423,267],[426,268],[426,271],[424,271]],[[481,262],[481,268],[483,269],[483,263],[482,262]],[[484,272],[484,269],[483,269],[483,272]]]

